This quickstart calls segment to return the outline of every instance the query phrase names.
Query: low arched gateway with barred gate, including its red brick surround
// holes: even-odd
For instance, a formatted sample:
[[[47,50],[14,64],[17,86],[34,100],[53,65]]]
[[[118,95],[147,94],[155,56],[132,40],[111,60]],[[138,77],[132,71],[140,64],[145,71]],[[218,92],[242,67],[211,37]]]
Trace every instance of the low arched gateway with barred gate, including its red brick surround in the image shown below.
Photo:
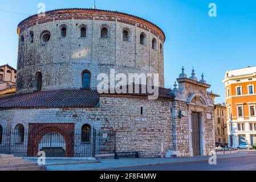
[[[28,156],[43,150],[48,156],[74,156],[74,123],[29,124]]]

